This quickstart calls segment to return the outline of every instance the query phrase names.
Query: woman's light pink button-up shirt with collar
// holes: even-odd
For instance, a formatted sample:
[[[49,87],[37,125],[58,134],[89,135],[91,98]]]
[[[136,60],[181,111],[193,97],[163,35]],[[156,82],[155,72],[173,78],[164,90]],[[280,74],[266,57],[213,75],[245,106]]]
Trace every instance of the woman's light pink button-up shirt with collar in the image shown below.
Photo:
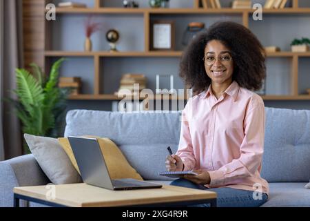
[[[265,137],[265,107],[259,95],[236,81],[219,98],[207,91],[188,100],[178,155],[184,170],[209,171],[209,188],[227,186],[269,193],[260,177]]]

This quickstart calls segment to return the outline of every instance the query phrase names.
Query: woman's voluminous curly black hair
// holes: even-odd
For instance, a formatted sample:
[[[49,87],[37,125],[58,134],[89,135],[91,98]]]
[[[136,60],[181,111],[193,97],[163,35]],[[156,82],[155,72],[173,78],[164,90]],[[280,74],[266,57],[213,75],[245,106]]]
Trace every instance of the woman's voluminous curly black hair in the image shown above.
[[[221,41],[234,61],[233,81],[240,87],[258,90],[266,75],[265,49],[257,37],[245,26],[232,21],[214,23],[206,32],[197,35],[189,44],[180,60],[180,77],[197,94],[206,90],[211,79],[205,71],[203,57],[211,40]]]

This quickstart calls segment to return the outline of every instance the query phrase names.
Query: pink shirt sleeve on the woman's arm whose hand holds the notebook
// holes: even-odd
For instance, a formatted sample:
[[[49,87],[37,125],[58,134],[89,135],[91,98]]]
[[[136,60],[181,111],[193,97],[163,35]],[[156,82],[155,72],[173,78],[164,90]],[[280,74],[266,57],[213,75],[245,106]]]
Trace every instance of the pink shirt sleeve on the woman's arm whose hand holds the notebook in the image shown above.
[[[210,187],[238,184],[238,180],[260,171],[265,138],[265,107],[258,104],[246,113],[245,137],[240,145],[240,157],[216,171],[209,171]]]

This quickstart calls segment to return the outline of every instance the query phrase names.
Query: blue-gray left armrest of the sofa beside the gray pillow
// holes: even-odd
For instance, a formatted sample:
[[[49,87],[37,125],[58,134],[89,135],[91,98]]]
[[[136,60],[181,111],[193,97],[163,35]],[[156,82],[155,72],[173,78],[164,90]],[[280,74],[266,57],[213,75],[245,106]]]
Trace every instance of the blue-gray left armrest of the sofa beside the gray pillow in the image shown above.
[[[12,189],[15,186],[37,186],[49,182],[32,154],[0,162],[0,207],[13,205]]]

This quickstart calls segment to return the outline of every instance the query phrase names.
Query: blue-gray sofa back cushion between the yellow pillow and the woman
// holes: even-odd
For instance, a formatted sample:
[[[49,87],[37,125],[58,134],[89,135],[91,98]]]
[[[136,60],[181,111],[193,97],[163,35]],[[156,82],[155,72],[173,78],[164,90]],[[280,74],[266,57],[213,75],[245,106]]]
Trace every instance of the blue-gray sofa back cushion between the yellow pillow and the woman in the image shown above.
[[[66,116],[68,135],[110,138],[145,180],[171,180],[165,171],[167,146],[178,148],[180,113],[118,113],[72,110]]]

